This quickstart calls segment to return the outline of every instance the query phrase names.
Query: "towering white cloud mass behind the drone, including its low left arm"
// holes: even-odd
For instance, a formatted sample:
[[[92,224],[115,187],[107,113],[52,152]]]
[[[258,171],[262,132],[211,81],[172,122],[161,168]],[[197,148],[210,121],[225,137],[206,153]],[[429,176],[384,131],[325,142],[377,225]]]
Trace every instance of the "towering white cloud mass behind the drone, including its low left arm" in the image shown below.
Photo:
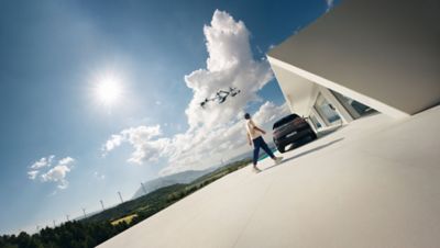
[[[105,153],[129,143],[134,149],[129,161],[142,164],[167,158],[169,166],[162,171],[167,174],[211,166],[213,158],[245,145],[244,110],[251,103],[262,102],[257,92],[273,79],[271,67],[267,60],[254,58],[244,23],[224,11],[215,11],[204,34],[209,55],[206,68],[185,76],[186,86],[194,93],[185,111],[189,128],[169,138],[162,136],[158,125],[128,128],[107,140]],[[230,87],[240,89],[241,93],[222,104],[212,102],[200,108],[205,98]],[[285,105],[265,102],[256,112],[255,121],[264,125],[285,113]]]

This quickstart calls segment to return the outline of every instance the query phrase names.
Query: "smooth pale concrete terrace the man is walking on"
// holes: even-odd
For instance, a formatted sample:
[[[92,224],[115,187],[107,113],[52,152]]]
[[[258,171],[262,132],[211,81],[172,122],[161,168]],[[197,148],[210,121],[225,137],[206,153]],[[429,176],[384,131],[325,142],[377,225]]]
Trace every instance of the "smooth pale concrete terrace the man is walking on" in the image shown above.
[[[233,172],[102,244],[112,247],[439,247],[440,106],[360,119]]]

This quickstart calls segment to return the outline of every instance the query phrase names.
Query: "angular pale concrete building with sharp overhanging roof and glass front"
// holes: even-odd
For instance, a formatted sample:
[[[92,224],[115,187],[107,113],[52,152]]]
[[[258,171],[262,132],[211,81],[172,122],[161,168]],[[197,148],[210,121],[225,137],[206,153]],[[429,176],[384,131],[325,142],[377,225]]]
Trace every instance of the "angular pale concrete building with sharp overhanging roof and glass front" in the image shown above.
[[[440,102],[440,2],[343,0],[267,55],[290,110],[317,129]]]

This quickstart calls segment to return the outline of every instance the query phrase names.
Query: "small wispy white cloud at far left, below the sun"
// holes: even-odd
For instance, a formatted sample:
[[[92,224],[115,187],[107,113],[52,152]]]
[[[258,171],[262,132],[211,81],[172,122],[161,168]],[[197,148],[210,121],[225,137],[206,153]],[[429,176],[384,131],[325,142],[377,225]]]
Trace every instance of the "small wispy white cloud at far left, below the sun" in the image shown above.
[[[74,167],[75,159],[72,157],[65,157],[59,159],[57,162],[54,162],[54,155],[41,158],[30,166],[28,176],[31,180],[40,179],[42,182],[55,182],[57,183],[58,189],[66,189],[68,187],[66,176]]]

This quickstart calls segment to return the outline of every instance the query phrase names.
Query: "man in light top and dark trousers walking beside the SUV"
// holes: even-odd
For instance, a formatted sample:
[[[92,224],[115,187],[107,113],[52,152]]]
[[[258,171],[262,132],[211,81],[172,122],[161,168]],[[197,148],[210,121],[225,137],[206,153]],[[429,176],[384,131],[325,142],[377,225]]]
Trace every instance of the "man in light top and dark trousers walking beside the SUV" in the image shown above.
[[[244,114],[244,119],[246,120],[246,133],[248,133],[248,142],[249,145],[252,146],[254,145],[254,171],[260,172],[261,170],[256,167],[256,164],[258,161],[258,153],[260,153],[260,147],[263,148],[264,151],[271,158],[275,161],[275,164],[279,164],[283,160],[283,157],[275,157],[275,155],[272,153],[272,150],[268,148],[267,144],[263,139],[263,134],[266,134],[266,132],[258,126],[255,125],[255,123],[252,121],[251,115],[249,113]]]

